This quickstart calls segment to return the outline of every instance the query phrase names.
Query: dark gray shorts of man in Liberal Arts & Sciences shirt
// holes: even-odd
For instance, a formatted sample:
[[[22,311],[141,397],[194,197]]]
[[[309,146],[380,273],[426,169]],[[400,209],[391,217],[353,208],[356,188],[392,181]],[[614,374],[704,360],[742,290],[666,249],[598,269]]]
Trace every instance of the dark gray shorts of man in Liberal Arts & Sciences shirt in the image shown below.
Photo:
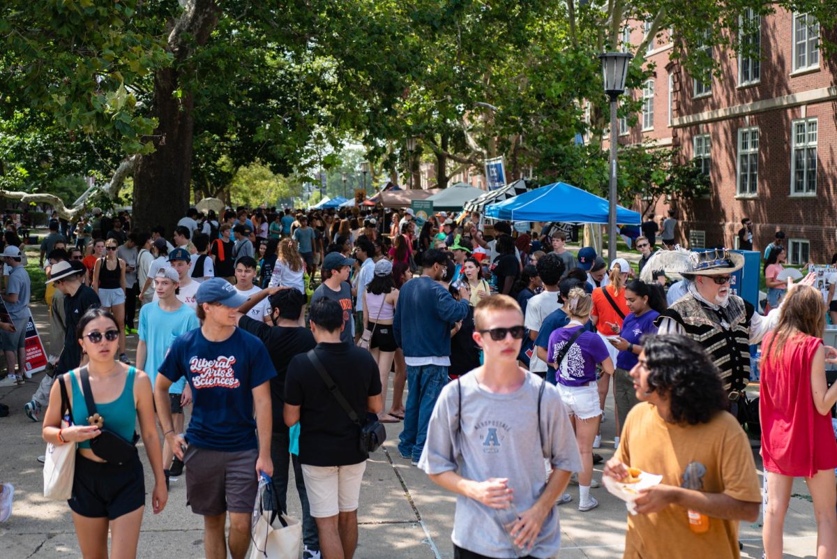
[[[217,516],[253,511],[259,490],[256,459],[259,451],[198,449],[190,444],[183,454],[186,465],[186,504],[193,513]]]

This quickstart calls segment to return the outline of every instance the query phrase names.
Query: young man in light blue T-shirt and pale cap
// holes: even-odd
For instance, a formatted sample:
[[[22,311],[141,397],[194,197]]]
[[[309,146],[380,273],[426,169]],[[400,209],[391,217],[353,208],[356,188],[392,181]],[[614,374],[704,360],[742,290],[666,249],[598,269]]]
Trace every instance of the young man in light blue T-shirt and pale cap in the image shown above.
[[[157,300],[142,305],[140,309],[139,337],[136,344],[136,368],[146,371],[151,387],[157,380],[157,371],[166,357],[172,340],[187,331],[199,328],[198,316],[192,307],[177,299],[180,275],[173,268],[161,268],[154,277],[154,292]],[[192,391],[180,379],[168,389],[174,428],[183,432],[183,407],[192,402]],[[173,459],[173,461],[172,461]],[[166,480],[177,478],[183,471],[183,463],[174,458],[172,447],[167,441],[162,446],[162,464]],[[171,464],[171,465],[169,465]]]

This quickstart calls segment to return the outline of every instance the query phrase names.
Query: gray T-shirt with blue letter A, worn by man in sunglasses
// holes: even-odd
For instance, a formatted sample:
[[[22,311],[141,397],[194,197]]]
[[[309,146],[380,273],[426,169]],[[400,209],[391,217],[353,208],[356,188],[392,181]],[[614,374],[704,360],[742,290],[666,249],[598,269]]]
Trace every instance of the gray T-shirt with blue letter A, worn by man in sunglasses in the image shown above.
[[[456,471],[466,480],[508,478],[518,514],[530,509],[547,485],[544,458],[552,469],[582,470],[567,408],[551,384],[543,392],[538,429],[537,393],[542,382],[526,372],[526,381],[511,394],[488,392],[479,386],[473,372],[460,377],[459,382],[450,382],[439,394],[430,418],[419,468],[427,474]],[[463,495],[456,496],[451,539],[457,546],[480,555],[515,556],[497,513]],[[530,554],[557,556],[560,546],[561,527],[553,506]]]

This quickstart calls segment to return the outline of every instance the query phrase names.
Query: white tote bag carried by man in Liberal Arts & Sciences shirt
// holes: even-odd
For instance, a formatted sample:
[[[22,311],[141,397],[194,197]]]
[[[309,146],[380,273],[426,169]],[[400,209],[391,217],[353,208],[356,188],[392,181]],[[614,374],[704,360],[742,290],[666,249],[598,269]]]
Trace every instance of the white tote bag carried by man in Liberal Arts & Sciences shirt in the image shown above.
[[[265,510],[265,503],[272,510]],[[259,495],[253,509],[253,546],[249,559],[297,559],[302,545],[300,521],[279,510],[273,481],[259,478]]]

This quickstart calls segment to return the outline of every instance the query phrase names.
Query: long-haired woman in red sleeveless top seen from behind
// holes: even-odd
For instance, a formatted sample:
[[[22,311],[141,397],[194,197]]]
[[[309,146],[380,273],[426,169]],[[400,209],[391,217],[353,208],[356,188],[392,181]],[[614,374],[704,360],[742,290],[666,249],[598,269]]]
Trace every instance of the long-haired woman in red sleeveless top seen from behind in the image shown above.
[[[768,478],[762,532],[768,559],[783,556],[784,519],[798,477],[805,479],[814,499],[817,559],[837,554],[837,442],[830,417],[837,385],[829,388],[825,381],[825,363],[835,362],[826,359],[823,348],[825,310],[818,290],[794,287],[776,329],[764,336],[759,415]]]

